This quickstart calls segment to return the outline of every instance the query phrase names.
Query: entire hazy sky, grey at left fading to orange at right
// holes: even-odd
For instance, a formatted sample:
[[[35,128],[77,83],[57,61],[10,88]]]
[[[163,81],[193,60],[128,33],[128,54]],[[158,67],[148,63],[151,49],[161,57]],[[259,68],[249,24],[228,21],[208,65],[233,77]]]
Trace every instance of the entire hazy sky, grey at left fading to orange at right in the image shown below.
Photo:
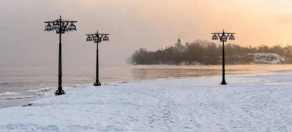
[[[240,46],[290,45],[290,0],[1,0],[0,67],[57,66],[59,36],[44,21],[76,20],[62,34],[63,66],[95,66],[96,44],[87,33],[110,33],[99,43],[100,66],[127,66],[141,47],[157,50],[236,33]],[[213,41],[219,43],[219,41]]]

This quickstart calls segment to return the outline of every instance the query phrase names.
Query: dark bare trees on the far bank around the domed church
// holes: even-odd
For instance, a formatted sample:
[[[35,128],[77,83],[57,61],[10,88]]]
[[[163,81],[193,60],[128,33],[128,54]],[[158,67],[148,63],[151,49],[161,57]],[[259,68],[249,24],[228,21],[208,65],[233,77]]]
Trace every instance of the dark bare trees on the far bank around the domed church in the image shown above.
[[[128,59],[128,64],[131,65],[181,65],[185,62],[186,65],[205,64],[205,65],[220,65],[222,60],[222,44],[216,44],[207,40],[195,40],[191,43],[185,43],[186,51],[182,54],[174,50],[173,46],[156,51],[148,51],[146,48],[137,49]],[[292,46],[287,45],[285,48],[276,44],[268,47],[261,45],[257,47],[239,46],[236,44],[227,43],[224,45],[225,56],[230,58],[232,55],[240,55],[246,53],[276,53],[283,55],[284,50],[292,50]],[[288,55],[287,55],[288,56]],[[292,58],[292,55],[290,55]],[[237,61],[244,58],[234,58],[229,64],[238,64]],[[248,60],[250,61],[250,60]]]

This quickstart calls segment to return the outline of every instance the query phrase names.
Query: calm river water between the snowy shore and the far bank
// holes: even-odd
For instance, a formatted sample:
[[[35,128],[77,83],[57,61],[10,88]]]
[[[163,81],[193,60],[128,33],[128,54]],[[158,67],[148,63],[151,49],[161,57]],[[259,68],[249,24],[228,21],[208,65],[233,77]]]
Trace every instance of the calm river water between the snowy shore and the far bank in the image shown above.
[[[227,65],[225,74],[263,74],[264,71],[291,68],[292,65]],[[116,66],[99,69],[101,83],[222,75],[222,66]],[[0,93],[56,87],[57,73],[57,67],[0,68]],[[63,86],[94,82],[95,67],[63,67]]]

